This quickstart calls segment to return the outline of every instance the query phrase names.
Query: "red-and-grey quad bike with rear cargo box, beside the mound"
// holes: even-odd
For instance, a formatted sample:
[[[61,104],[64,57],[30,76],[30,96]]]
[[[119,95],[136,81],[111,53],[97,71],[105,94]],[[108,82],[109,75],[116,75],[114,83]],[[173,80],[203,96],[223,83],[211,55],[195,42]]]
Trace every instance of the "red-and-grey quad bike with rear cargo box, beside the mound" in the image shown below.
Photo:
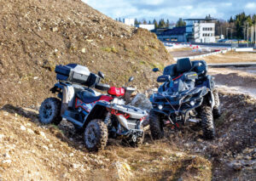
[[[85,147],[91,151],[103,150],[108,137],[121,138],[134,146],[143,143],[142,123],[147,113],[125,105],[125,97],[134,88],[110,88],[100,83],[104,78],[101,71],[96,75],[82,65],[57,65],[55,72],[58,83],[50,91],[58,93],[59,99],[44,100],[39,110],[40,122],[59,124],[62,118],[67,119],[83,131]],[[97,93],[92,88],[108,94]]]

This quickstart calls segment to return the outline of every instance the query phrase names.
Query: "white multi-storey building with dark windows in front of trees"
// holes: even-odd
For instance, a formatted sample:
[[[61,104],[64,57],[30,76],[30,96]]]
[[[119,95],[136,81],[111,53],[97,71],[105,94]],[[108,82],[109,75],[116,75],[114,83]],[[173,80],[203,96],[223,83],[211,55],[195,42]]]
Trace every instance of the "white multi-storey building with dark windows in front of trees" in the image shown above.
[[[215,42],[215,19],[187,19],[187,42]]]

